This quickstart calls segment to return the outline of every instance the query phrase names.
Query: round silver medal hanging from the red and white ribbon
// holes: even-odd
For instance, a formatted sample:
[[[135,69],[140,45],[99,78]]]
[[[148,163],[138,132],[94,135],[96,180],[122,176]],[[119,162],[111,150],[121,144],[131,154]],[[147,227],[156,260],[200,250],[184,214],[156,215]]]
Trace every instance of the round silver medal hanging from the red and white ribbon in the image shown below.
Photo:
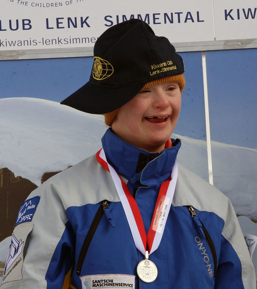
[[[150,283],[156,279],[157,274],[157,267],[154,262],[148,260],[148,251],[146,251],[145,260],[137,265],[137,275],[142,281]]]

